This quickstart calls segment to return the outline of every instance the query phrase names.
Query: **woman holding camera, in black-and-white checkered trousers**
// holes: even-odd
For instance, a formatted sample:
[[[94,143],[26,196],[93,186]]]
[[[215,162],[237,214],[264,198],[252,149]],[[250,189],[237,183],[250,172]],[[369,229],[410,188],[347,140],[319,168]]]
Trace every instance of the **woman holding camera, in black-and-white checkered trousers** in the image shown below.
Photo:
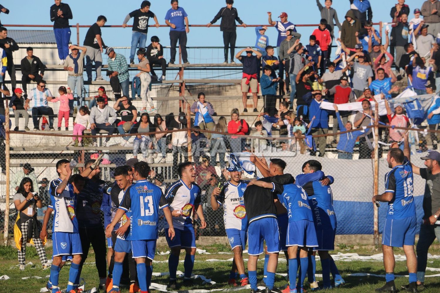
[[[22,179],[17,193],[14,195],[14,204],[18,211],[14,226],[14,239],[18,249],[20,270],[25,269],[26,243],[31,241],[37,249],[43,269],[50,267],[43,241],[40,239],[41,223],[37,220],[37,207],[42,208],[43,202],[38,197],[38,193],[33,192],[32,180],[29,177]]]

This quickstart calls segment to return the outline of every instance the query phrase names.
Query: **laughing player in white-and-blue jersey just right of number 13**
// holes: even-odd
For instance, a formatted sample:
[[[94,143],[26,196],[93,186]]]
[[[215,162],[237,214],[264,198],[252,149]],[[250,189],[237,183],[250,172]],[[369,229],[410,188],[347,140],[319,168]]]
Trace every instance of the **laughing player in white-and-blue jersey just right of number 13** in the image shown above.
[[[185,268],[183,285],[190,286],[191,274],[194,268],[194,254],[195,234],[191,220],[191,213],[195,210],[197,213],[201,226],[206,228],[205,216],[203,215],[203,208],[201,205],[200,187],[195,184],[195,170],[191,162],[183,162],[177,166],[177,173],[180,180],[171,184],[167,189],[165,198],[169,203],[172,213],[172,223],[176,231],[176,237],[172,239],[169,236],[169,224],[165,223],[165,237],[171,253],[168,259],[169,268],[169,288],[176,289],[176,271],[179,264],[180,249],[186,250],[185,261],[183,268]]]

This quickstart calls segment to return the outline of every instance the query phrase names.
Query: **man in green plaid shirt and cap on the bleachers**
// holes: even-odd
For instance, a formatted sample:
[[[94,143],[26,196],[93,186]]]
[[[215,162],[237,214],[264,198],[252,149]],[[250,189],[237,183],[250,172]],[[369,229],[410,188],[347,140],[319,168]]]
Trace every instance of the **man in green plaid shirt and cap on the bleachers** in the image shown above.
[[[117,77],[119,81],[119,85],[122,89],[122,95],[130,99],[130,75],[128,74],[128,65],[125,57],[122,54],[116,54],[112,47],[108,47],[106,49],[107,64],[109,66],[107,74],[110,72],[110,79],[112,77]],[[110,80],[111,81],[111,80]],[[112,84],[110,82],[110,84]],[[112,86],[113,87],[113,86]],[[115,90],[113,87],[113,92],[115,94],[115,98],[121,95],[120,91]]]

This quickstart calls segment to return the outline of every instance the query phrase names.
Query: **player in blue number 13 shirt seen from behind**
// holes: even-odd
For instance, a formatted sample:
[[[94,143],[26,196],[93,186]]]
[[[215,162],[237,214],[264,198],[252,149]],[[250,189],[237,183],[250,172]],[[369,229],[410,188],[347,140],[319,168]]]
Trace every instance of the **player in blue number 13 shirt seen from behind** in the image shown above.
[[[156,241],[158,239],[159,208],[163,210],[169,225],[168,237],[173,239],[175,233],[172,224],[172,215],[165,196],[158,186],[147,181],[150,166],[145,162],[139,162],[135,164],[134,168],[135,172],[133,177],[136,179],[136,183],[126,189],[124,198],[113,221],[106,228],[106,236],[109,237],[111,235],[114,227],[125,213],[128,211],[131,212],[130,231],[128,232],[126,240],[131,241],[133,258],[136,259],[140,292],[147,293],[153,274],[152,264],[154,254],[156,253]],[[123,242],[120,243],[121,247],[115,246],[115,251],[120,250],[123,252],[124,250],[128,250],[126,247],[127,242],[124,242],[125,247],[122,247],[124,246],[122,245]],[[119,264],[115,261],[115,273],[118,273],[121,269],[120,267],[117,268],[118,265]],[[115,279],[115,273],[113,276],[114,286],[118,285],[116,284],[118,280]]]

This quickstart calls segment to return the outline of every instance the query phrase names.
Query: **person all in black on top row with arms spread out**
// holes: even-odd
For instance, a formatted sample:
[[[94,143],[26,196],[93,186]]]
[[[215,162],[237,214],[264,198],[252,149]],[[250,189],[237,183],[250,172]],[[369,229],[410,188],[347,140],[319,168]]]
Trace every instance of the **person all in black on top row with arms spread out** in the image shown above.
[[[234,53],[235,53],[235,41],[237,40],[237,25],[235,21],[246,27],[244,23],[238,17],[238,11],[236,8],[232,7],[234,0],[226,0],[226,7],[222,7],[217,15],[209,22],[206,26],[210,27],[217,20],[221,18],[220,31],[223,32],[223,43],[224,43],[224,62],[227,64],[227,47],[231,47],[231,64],[235,64]]]

